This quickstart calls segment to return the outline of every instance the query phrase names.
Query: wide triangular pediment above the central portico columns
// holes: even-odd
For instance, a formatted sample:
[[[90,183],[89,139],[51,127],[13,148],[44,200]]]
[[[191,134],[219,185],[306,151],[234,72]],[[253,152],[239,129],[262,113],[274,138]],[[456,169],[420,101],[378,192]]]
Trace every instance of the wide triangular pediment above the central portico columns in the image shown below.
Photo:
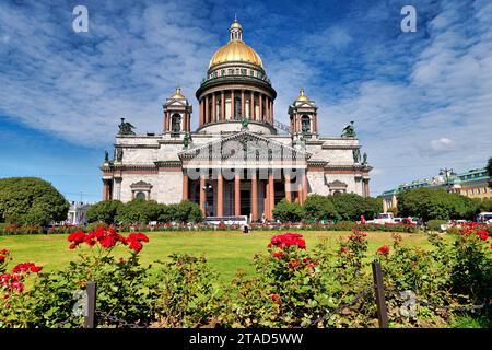
[[[282,142],[243,130],[226,138],[212,141],[178,153],[181,160],[214,161],[303,161],[311,153]]]

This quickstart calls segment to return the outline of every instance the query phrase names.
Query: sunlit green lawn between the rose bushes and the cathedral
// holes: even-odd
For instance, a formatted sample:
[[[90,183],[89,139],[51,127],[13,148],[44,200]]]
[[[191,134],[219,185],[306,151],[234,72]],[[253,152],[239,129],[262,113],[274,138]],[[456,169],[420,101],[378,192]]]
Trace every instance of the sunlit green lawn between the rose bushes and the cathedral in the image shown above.
[[[307,248],[327,238],[333,247],[339,237],[350,232],[333,231],[296,231],[301,232],[307,243]],[[231,280],[237,269],[253,272],[253,256],[266,250],[270,237],[281,232],[253,232],[244,234],[239,231],[204,231],[204,232],[149,232],[150,242],[141,252],[142,262],[166,259],[172,253],[203,254],[210,265],[220,272],[221,279]],[[424,234],[401,234],[403,244],[430,248]],[[368,232],[368,252],[373,254],[383,244],[391,245],[389,232]],[[70,260],[77,258],[79,249],[68,248],[67,235],[17,235],[0,236],[0,249],[10,249],[13,257],[12,266],[17,262],[33,261],[45,267],[46,271],[60,269]],[[84,249],[89,249],[85,248]],[[116,250],[117,255],[127,255],[127,248]]]

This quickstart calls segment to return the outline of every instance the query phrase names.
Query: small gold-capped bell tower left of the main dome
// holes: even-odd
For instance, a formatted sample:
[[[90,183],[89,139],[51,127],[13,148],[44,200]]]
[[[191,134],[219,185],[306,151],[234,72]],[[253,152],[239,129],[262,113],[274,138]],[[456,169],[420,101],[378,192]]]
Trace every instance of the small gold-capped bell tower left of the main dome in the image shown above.
[[[192,106],[181,94],[181,89],[176,91],[163,104],[164,107],[164,133],[186,133],[190,132],[190,121]]]

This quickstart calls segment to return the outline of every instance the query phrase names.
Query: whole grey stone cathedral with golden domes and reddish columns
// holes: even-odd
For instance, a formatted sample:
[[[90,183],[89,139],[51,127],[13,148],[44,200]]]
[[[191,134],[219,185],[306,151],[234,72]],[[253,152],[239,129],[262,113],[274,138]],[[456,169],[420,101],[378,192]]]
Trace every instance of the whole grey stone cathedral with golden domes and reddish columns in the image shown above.
[[[104,200],[190,200],[207,217],[258,221],[272,220],[282,199],[370,196],[372,167],[361,156],[353,122],[341,136],[320,136],[318,107],[303,89],[289,106],[290,125],[274,120],[277,92],[237,21],[195,95],[195,130],[192,105],[179,88],[163,104],[157,135],[136,135],[121,119],[114,158],[106,152],[101,166]]]

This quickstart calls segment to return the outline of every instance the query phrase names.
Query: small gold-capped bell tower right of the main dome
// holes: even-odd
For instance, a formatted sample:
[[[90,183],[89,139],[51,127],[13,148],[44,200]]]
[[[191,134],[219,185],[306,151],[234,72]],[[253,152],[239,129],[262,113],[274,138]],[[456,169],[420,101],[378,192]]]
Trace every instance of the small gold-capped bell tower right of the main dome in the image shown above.
[[[314,101],[309,100],[301,89],[300,95],[292,105],[289,106],[291,120],[291,132],[294,136],[312,138],[318,135],[318,107]]]

